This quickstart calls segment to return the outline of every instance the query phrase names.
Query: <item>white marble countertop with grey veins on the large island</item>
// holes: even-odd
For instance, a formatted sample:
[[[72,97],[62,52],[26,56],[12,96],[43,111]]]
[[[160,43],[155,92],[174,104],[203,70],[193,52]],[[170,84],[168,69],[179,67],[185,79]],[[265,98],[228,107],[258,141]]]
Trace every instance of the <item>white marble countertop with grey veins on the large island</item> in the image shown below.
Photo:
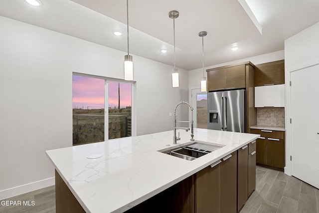
[[[158,152],[190,142],[190,132],[173,131],[113,139],[46,151],[55,169],[87,213],[124,212],[195,174],[259,135],[194,129],[194,139],[226,145],[193,161]],[[166,145],[169,145],[166,146]],[[88,159],[102,154],[98,159]]]

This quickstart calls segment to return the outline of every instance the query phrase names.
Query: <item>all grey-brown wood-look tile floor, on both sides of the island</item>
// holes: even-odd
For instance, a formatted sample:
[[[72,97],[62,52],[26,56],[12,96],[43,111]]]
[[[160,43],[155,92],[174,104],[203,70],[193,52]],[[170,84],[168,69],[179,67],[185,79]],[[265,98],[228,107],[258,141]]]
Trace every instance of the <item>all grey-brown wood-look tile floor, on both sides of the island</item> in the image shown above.
[[[2,206],[0,213],[55,213],[54,186],[3,201],[34,201],[34,206]],[[319,190],[279,172],[256,167],[256,190],[240,213],[319,213]]]

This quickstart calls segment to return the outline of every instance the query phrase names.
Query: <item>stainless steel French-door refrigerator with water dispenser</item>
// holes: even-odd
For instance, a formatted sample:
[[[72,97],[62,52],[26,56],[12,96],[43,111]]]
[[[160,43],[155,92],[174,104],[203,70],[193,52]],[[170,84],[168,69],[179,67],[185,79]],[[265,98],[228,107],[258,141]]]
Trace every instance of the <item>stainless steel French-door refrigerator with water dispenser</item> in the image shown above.
[[[207,128],[229,132],[246,132],[246,90],[209,92]]]

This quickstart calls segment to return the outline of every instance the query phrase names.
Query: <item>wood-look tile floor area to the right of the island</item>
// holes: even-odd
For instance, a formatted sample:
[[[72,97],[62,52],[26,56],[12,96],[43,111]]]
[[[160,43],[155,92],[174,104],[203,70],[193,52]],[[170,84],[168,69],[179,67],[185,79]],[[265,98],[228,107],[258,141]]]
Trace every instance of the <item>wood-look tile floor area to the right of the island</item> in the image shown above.
[[[256,190],[240,213],[319,213],[319,190],[264,167],[256,167]]]

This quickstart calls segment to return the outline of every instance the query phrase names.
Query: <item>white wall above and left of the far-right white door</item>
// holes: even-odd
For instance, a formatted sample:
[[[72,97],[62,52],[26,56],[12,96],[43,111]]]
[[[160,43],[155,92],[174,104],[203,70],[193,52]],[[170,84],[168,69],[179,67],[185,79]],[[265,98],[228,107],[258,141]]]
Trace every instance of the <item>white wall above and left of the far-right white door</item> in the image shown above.
[[[285,81],[291,80],[291,72],[319,64],[319,22],[285,40]],[[291,175],[290,156],[292,145],[291,87],[286,84],[286,168],[285,173]]]

